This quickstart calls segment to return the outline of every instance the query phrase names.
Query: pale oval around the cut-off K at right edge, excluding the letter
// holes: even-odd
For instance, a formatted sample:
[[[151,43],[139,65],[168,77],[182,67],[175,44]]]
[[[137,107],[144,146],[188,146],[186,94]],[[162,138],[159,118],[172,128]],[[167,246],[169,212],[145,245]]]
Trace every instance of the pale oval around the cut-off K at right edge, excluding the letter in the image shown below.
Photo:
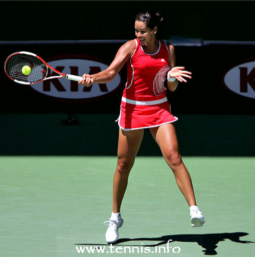
[[[255,91],[252,89],[251,85],[247,82],[247,92],[241,92],[240,91],[240,69],[245,67],[247,68],[247,75],[255,68],[255,61],[248,61],[241,63],[240,65],[237,65],[231,69],[229,69],[224,77],[223,77],[223,83],[225,87],[227,87],[230,91],[244,96],[248,98],[255,98]],[[255,78],[254,78],[255,79]]]

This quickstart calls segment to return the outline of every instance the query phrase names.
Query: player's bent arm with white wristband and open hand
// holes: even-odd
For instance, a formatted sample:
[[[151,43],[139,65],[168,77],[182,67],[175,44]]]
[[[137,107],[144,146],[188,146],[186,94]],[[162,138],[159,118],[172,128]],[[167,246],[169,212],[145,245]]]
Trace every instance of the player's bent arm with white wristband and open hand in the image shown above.
[[[191,78],[191,72],[185,71],[184,67],[175,67],[175,52],[174,47],[169,45],[169,62],[168,65],[170,67],[170,71],[168,72],[167,79],[168,79],[168,89],[170,91],[175,91],[178,85],[178,82],[187,82],[186,78]]]

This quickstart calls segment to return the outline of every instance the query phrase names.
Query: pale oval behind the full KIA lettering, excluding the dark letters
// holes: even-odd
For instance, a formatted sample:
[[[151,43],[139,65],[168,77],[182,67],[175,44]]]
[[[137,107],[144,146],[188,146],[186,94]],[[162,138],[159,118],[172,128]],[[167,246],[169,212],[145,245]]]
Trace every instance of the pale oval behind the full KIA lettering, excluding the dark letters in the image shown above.
[[[61,71],[62,73],[70,74],[71,73],[71,68],[69,67],[78,67],[78,73],[79,76],[81,76],[84,73],[89,73],[90,67],[100,67],[100,70],[103,71],[107,69],[109,66],[95,60],[90,60],[90,59],[79,59],[79,58],[63,58],[63,59],[56,59],[48,62],[50,66],[53,68],[56,67],[64,67],[64,69]],[[52,72],[50,70],[50,72]],[[75,74],[73,74],[75,75]],[[114,77],[113,80],[110,82],[106,83],[106,89],[104,84],[98,84],[94,83],[91,85],[90,88],[88,88],[89,91],[83,91],[84,86],[83,85],[78,85],[78,91],[71,91],[71,83],[75,81],[71,81],[68,79],[64,78],[58,78],[59,82],[61,83],[61,88],[64,89],[65,91],[59,91],[55,85],[54,81],[52,79],[42,81],[36,84],[30,85],[32,89],[35,91],[52,96],[55,98],[62,98],[62,99],[72,99],[72,100],[81,100],[81,99],[91,99],[91,98],[97,98],[97,97],[102,97],[104,95],[107,95],[109,93],[112,93],[114,90],[119,88],[121,84],[121,76],[118,73],[117,76]],[[50,83],[50,91],[45,91],[43,90],[43,83],[47,83],[49,85]],[[75,82],[77,83],[77,82]],[[102,91],[101,89],[104,88]],[[77,89],[76,89],[77,90]],[[105,91],[107,90],[107,91]]]

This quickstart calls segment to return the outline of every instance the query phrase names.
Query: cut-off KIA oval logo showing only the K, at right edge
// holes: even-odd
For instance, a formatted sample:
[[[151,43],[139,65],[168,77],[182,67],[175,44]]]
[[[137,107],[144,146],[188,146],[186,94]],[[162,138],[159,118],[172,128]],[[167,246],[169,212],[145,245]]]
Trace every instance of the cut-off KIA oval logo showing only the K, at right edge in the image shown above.
[[[255,98],[255,61],[230,69],[224,76],[224,84],[239,95]]]

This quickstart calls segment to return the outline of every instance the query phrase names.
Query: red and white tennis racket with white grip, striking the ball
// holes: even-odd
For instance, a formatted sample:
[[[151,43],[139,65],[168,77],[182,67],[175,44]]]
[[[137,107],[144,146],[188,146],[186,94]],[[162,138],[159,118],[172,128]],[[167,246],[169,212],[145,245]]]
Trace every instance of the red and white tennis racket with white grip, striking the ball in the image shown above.
[[[24,68],[24,66],[29,66],[31,71],[23,73],[22,68]],[[47,77],[49,69],[59,75]],[[61,73],[51,67],[38,55],[25,51],[16,52],[7,57],[5,61],[5,72],[13,81],[28,85],[54,78],[66,78],[74,81],[79,81],[82,79],[80,76]]]

